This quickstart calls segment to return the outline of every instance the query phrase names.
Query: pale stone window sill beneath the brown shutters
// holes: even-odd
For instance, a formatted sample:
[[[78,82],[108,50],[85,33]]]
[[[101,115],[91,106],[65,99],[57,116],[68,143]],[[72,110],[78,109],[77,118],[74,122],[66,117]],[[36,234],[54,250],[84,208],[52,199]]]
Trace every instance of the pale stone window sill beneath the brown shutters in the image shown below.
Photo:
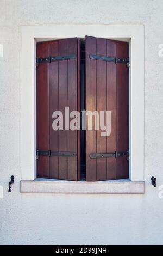
[[[144,181],[65,181],[36,178],[21,180],[21,193],[143,194]]]

